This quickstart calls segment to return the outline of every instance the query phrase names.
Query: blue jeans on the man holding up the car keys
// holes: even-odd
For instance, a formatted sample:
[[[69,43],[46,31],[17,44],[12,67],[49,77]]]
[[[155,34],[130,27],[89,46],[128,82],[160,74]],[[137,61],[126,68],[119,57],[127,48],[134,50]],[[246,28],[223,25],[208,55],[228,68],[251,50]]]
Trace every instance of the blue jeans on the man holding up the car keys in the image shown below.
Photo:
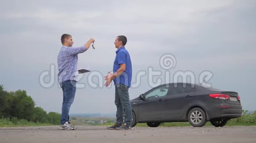
[[[69,109],[75,98],[75,80],[68,80],[60,83],[60,87],[63,91],[63,102],[60,124],[63,125],[65,122],[69,122]]]

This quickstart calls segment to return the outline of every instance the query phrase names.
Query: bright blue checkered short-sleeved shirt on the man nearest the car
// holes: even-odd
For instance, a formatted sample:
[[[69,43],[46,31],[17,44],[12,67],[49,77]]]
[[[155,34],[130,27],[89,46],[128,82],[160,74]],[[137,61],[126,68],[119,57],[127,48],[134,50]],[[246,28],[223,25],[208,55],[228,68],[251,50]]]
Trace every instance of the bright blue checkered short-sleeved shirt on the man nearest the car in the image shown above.
[[[132,61],[130,58],[130,55],[128,51],[123,47],[120,47],[116,51],[117,55],[114,61],[113,66],[113,74],[117,72],[117,70],[120,68],[119,64],[125,64],[125,71],[118,76],[117,78],[113,79],[114,84],[124,84],[128,87],[131,87],[131,81],[132,81]]]

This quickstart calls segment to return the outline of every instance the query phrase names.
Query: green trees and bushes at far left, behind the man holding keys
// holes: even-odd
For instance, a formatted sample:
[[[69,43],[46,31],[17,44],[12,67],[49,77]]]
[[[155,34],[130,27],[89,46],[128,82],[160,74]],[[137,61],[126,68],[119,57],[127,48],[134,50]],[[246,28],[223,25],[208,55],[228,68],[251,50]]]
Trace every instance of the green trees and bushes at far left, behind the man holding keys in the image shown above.
[[[25,90],[8,92],[0,85],[0,118],[25,119],[29,122],[60,124],[60,114],[49,112],[47,114],[41,107],[35,107],[34,100],[26,94]]]

